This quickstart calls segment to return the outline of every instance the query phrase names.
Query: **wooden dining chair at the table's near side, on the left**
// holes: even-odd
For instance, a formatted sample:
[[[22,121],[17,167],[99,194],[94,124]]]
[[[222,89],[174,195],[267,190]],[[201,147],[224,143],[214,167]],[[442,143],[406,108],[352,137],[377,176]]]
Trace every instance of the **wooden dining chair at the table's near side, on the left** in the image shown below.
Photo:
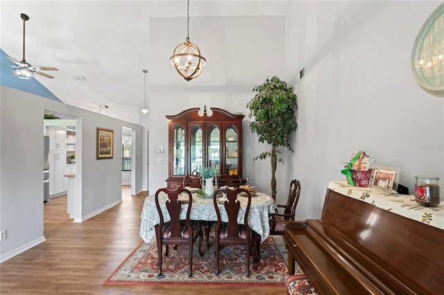
[[[169,222],[164,222],[164,215],[160,207],[160,193],[166,193],[168,196],[165,202],[167,211],[170,217]],[[187,196],[187,200],[181,201],[179,195]],[[202,244],[203,232],[202,226],[196,224],[195,226],[189,220],[189,214],[191,212],[191,206],[193,206],[193,198],[191,193],[186,188],[160,188],[155,193],[155,206],[157,213],[159,213],[160,222],[155,226],[155,235],[157,240],[157,252],[159,255],[159,276],[162,276],[162,248],[166,246],[165,256],[169,255],[169,245],[188,245],[189,247],[189,271],[188,275],[192,276],[193,268],[193,244],[197,238],[199,238],[199,254],[203,256],[200,251],[200,245]],[[185,220],[180,220],[180,210],[182,206],[187,206],[187,216]],[[195,227],[195,229],[194,229]],[[196,235],[194,236],[194,231]]]

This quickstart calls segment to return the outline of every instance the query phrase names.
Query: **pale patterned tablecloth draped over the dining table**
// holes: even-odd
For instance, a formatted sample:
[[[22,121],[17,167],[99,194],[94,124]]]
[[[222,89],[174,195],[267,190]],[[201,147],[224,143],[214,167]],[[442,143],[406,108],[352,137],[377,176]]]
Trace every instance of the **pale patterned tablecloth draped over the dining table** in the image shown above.
[[[191,212],[189,218],[191,220],[216,222],[217,215],[216,209],[214,208],[213,196],[200,197],[196,192],[191,193],[193,198],[191,203]],[[162,215],[164,217],[164,222],[169,222],[171,219],[167,211],[167,194],[161,192],[159,195],[160,208],[162,210]],[[237,222],[239,224],[244,224],[244,216],[246,211],[246,206],[248,203],[248,197],[244,197],[239,194],[237,196],[241,206],[239,209],[239,214],[237,215]],[[183,204],[180,210],[180,218],[185,220],[188,204]],[[225,211],[223,203],[217,202],[219,211],[221,213],[222,222],[228,222],[228,215]],[[255,231],[261,236],[261,242],[263,242],[270,233],[270,222],[268,213],[275,213],[277,205],[275,200],[265,193],[256,192],[251,196],[250,212],[248,213],[248,225],[250,229]],[[148,195],[144,202],[144,207],[142,208],[141,223],[139,235],[144,240],[144,242],[149,242],[155,236],[155,225],[159,224],[160,217],[157,213],[157,208],[155,206],[154,195]]]

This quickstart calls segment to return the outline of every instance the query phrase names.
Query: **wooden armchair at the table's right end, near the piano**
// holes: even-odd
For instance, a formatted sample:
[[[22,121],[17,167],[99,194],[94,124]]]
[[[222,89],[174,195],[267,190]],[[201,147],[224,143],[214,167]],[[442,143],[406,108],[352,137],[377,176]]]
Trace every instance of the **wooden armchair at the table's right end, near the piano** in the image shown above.
[[[290,182],[289,197],[287,204],[278,204],[278,208],[284,208],[284,213],[269,213],[270,215],[270,235],[284,235],[285,224],[294,220],[296,213],[296,206],[298,206],[300,195],[300,182],[293,179]]]

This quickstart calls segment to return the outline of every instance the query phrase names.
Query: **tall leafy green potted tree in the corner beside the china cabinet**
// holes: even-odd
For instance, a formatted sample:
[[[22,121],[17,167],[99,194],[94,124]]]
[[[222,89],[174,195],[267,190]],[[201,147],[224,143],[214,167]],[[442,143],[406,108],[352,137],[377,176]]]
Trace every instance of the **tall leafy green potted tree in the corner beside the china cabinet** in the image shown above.
[[[262,152],[257,159],[271,158],[271,195],[276,199],[276,167],[279,158],[280,147],[287,147],[291,152],[291,134],[296,130],[296,94],[293,87],[287,87],[287,82],[274,76],[266,78],[264,84],[253,88],[255,97],[247,103],[250,110],[249,117],[255,117],[250,123],[251,132],[256,132],[259,142],[266,141],[271,145],[271,151]]]

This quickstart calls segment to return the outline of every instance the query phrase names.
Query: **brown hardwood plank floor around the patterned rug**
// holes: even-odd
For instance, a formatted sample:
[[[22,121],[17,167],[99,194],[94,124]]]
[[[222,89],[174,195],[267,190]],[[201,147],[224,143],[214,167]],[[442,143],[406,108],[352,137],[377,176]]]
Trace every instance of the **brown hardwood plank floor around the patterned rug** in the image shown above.
[[[132,196],[82,223],[69,220],[67,197],[44,204],[46,242],[0,264],[0,294],[286,294],[285,287],[102,285],[142,242],[146,194]]]

